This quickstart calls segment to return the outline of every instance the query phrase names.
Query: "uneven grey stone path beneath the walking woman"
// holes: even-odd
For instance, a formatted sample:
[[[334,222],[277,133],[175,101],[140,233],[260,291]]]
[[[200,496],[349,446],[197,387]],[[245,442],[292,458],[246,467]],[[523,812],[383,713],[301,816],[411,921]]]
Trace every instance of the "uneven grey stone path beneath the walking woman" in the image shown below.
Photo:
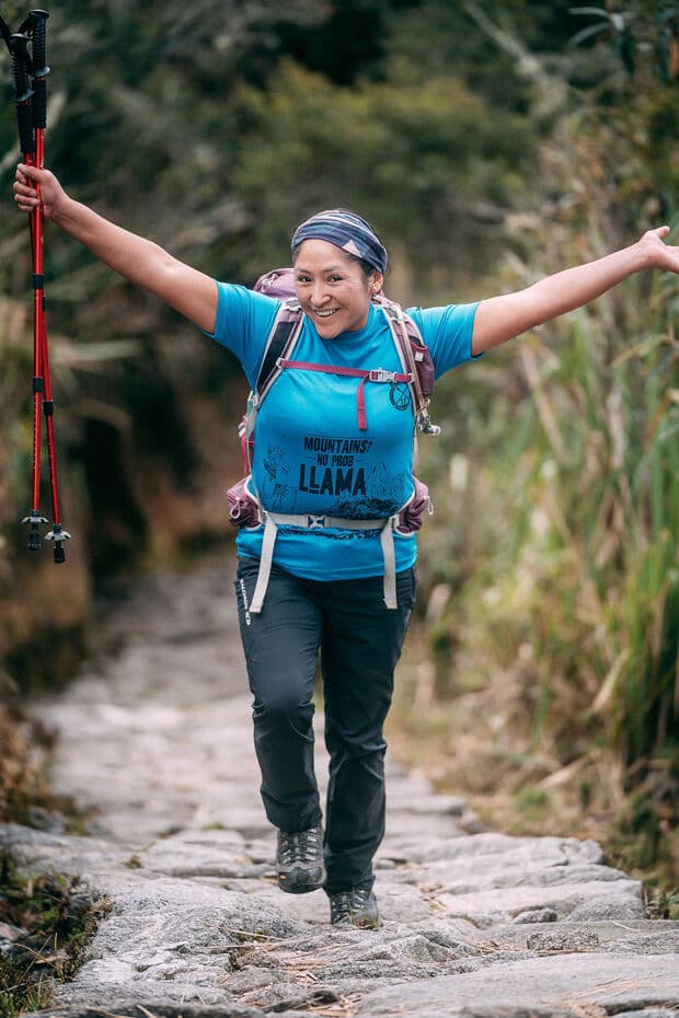
[[[117,652],[35,707],[59,733],[55,790],[89,833],[3,840],[110,904],[42,1016],[679,1015],[679,923],[646,919],[638,883],[597,844],[480,832],[462,800],[393,763],[383,927],[332,928],[322,892],[281,894],[230,572],[140,585],[107,620]]]

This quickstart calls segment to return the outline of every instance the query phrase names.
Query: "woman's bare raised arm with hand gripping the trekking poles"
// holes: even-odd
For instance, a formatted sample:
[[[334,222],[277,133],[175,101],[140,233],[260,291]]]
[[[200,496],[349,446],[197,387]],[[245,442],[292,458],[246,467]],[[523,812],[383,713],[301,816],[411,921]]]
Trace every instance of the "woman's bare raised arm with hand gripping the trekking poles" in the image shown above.
[[[20,163],[14,200],[24,212],[33,211],[42,201],[46,219],[70,233],[112,269],[158,294],[200,328],[212,332],[217,286],[205,273],[174,258],[153,241],[123,230],[87,205],[74,201],[48,170]]]

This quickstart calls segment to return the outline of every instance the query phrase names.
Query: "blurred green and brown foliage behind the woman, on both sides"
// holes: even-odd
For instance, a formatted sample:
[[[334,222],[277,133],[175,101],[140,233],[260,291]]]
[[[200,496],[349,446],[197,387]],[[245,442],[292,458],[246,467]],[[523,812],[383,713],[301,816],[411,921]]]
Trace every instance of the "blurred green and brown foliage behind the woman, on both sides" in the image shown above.
[[[1,13],[16,25],[26,11]],[[287,263],[301,218],[345,205],[384,236],[391,296],[483,298],[674,224],[678,39],[679,4],[663,0],[64,0],[47,164],[221,279],[252,285]],[[230,540],[244,383],[48,227],[74,540],[61,568],[26,552],[31,266],[2,66],[8,813],[27,773],[21,697],[72,670],[106,585]],[[398,751],[491,822],[594,833],[664,888],[679,865],[678,311],[675,278],[638,276],[439,383],[444,433],[421,443],[436,513],[391,721]]]

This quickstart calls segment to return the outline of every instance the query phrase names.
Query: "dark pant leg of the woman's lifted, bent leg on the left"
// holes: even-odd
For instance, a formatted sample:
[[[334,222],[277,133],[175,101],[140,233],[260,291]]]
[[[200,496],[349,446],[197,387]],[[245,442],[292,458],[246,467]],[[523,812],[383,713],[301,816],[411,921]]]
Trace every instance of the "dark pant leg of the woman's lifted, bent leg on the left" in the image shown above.
[[[235,592],[262,800],[276,828],[303,831],[321,823],[312,728],[321,612],[302,580],[274,567],[262,612],[252,614],[257,570],[257,560],[241,559]]]

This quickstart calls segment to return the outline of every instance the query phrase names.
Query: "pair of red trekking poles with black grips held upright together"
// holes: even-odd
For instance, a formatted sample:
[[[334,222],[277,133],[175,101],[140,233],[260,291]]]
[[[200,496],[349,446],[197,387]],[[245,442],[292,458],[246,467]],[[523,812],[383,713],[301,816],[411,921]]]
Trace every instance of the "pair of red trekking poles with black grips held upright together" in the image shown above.
[[[46,22],[47,11],[31,11],[20,31],[5,35],[12,56],[12,74],[16,92],[16,116],[19,124],[19,142],[23,160],[28,166],[42,170],[45,164],[45,127],[47,126],[47,76],[46,62]],[[7,26],[4,26],[5,28]],[[32,42],[32,56],[28,56],[28,38]],[[33,88],[28,77],[33,78]],[[37,187],[39,197],[39,186]],[[47,344],[47,322],[45,317],[45,277],[43,261],[44,216],[42,206],[37,206],[30,216],[31,250],[33,255],[33,477],[31,512],[23,523],[30,525],[28,548],[39,551],[39,527],[48,521],[42,516],[41,500],[41,408],[45,414],[47,432],[47,452],[49,460],[49,486],[51,491],[53,529],[45,535],[46,541],[54,542],[54,560],[66,562],[64,542],[70,534],[61,524],[59,507],[59,487],[57,482],[57,461],[54,433],[54,402],[49,374],[49,351]]]

